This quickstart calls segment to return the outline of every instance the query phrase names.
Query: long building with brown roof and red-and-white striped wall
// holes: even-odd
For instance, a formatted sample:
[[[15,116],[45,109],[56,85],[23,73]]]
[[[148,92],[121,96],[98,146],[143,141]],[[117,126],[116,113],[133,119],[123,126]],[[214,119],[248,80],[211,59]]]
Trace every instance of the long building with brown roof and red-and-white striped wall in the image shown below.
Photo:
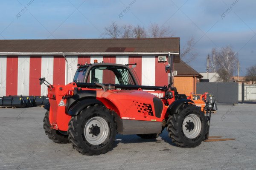
[[[165,65],[180,59],[180,38],[0,40],[0,96],[47,95],[39,78],[64,85],[73,81],[77,64],[137,63],[141,85],[168,85]],[[158,61],[166,56],[167,61]]]

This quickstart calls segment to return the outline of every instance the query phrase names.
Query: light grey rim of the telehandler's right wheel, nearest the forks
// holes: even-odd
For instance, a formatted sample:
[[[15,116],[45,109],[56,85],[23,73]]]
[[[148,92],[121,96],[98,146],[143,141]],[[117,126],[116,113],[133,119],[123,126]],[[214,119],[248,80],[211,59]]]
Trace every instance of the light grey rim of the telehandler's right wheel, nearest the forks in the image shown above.
[[[189,139],[196,138],[202,128],[200,118],[195,114],[189,114],[186,116],[182,123],[183,132]]]

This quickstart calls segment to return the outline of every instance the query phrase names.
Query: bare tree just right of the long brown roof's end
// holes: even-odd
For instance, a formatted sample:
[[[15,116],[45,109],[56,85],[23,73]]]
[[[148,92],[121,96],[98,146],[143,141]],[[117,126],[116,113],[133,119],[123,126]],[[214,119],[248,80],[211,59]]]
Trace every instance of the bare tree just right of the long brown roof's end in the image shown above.
[[[197,57],[198,53],[196,52],[195,49],[195,44],[196,41],[194,40],[194,37],[191,37],[187,43],[186,46],[182,48],[181,54],[180,54],[180,59],[182,59],[184,62],[191,62],[192,60]]]

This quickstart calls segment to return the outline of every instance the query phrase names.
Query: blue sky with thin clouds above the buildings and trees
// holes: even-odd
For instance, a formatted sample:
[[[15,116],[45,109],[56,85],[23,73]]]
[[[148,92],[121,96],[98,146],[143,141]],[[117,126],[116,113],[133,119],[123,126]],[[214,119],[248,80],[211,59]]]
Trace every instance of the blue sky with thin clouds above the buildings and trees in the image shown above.
[[[0,39],[99,38],[113,21],[120,26],[170,26],[181,49],[194,37],[198,57],[189,65],[198,72],[206,72],[212,48],[227,45],[238,52],[240,76],[256,64],[254,0],[1,1]]]

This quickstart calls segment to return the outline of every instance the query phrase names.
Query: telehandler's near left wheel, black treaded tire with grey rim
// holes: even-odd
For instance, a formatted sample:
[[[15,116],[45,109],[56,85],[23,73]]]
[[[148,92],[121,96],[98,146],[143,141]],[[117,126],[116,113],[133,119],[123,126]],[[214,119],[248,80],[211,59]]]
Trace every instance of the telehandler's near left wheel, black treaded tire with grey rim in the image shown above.
[[[73,116],[68,125],[70,142],[84,155],[106,153],[116,139],[114,116],[107,108],[99,105],[89,106],[79,115]]]

